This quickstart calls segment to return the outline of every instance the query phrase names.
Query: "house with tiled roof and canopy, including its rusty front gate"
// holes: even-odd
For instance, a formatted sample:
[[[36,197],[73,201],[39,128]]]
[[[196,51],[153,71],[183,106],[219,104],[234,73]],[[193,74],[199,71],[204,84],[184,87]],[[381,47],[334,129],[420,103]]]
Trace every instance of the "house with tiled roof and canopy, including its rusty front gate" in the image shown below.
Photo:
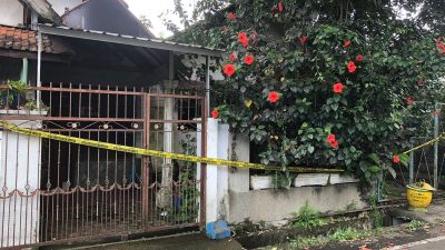
[[[156,40],[120,0],[72,2],[78,6],[1,1],[0,120],[206,156],[209,68],[221,51]],[[119,23],[98,9],[119,14]],[[205,81],[185,67],[189,56],[204,62]],[[206,221],[200,166],[4,128],[0,139],[0,248],[145,236]]]

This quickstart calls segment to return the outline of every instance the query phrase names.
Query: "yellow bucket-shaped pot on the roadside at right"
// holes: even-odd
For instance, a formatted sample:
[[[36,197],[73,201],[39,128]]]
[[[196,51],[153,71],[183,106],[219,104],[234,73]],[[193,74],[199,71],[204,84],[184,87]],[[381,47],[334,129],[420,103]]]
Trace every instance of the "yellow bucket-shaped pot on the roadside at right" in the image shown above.
[[[416,183],[406,186],[406,197],[411,208],[427,208],[433,199],[432,188],[427,183]]]

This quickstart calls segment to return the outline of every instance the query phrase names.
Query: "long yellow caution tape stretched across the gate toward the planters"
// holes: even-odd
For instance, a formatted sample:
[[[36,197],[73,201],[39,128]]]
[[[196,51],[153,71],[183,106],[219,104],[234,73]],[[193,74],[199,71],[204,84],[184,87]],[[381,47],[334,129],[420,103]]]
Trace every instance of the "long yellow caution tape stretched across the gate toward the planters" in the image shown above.
[[[135,148],[135,147],[128,147],[128,146],[120,146],[120,144],[113,144],[113,143],[101,142],[101,141],[93,141],[93,140],[81,139],[81,138],[76,138],[76,137],[68,137],[68,136],[63,136],[63,134],[43,132],[43,131],[39,131],[39,130],[24,129],[24,128],[17,127],[17,126],[11,124],[6,121],[0,121],[0,128],[3,128],[6,130],[9,130],[9,131],[12,131],[16,133],[30,136],[30,137],[39,137],[39,138],[44,138],[44,139],[50,139],[50,140],[65,141],[68,143],[82,144],[82,146],[89,146],[89,147],[99,148],[99,149],[107,149],[107,150],[135,153],[135,154],[141,154],[141,156],[168,158],[168,159],[190,161],[190,162],[196,162],[196,163],[228,166],[228,167],[236,167],[236,168],[278,170],[278,171],[283,170],[281,167],[273,167],[273,166],[249,163],[249,162],[243,162],[243,161],[220,160],[220,159],[206,158],[206,157],[195,157],[195,156],[187,156],[187,154],[180,154],[180,153],[164,152],[164,151],[157,151],[157,150],[150,150],[150,149],[141,149],[141,148]],[[317,168],[303,168],[303,167],[288,167],[287,170],[290,172],[343,172],[344,171],[340,169],[317,169]]]

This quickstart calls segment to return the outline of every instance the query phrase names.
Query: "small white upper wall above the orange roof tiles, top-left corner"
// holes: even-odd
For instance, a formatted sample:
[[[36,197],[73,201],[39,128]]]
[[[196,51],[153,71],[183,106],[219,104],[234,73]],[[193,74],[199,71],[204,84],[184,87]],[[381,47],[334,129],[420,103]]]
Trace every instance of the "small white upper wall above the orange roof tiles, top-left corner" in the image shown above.
[[[1,0],[0,13],[0,24],[17,27],[23,23],[23,6],[18,0]]]

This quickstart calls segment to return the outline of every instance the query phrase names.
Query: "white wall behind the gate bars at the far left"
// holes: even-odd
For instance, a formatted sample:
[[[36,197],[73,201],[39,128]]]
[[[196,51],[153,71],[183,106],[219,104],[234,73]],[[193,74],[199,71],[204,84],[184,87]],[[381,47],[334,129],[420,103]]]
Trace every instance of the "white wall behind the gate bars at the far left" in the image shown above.
[[[13,123],[23,128],[38,124]],[[32,192],[40,184],[40,139],[7,131],[0,132],[0,197],[9,197],[0,199],[0,248],[37,243],[40,202]]]

